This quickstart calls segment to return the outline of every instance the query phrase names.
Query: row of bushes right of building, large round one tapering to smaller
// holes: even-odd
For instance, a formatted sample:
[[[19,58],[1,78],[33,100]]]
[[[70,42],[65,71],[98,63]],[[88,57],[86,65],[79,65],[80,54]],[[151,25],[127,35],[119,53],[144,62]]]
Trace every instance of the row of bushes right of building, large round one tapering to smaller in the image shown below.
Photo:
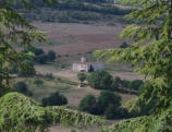
[[[87,76],[87,82],[93,88],[119,91],[119,88],[127,88],[138,91],[144,84],[142,80],[127,81],[119,76],[114,77],[107,71],[93,72]]]

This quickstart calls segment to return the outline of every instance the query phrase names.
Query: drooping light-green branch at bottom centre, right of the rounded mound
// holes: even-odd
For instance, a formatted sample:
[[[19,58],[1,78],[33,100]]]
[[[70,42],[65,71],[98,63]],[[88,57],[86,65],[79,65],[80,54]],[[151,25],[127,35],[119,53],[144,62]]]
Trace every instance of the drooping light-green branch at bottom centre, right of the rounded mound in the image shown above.
[[[103,119],[88,115],[85,112],[81,112],[77,110],[69,109],[64,106],[56,106],[56,107],[47,107],[47,115],[52,116],[53,120],[50,118],[50,120],[53,123],[61,122],[62,124],[66,125],[74,125],[76,128],[85,128],[88,124],[102,124],[105,122]]]

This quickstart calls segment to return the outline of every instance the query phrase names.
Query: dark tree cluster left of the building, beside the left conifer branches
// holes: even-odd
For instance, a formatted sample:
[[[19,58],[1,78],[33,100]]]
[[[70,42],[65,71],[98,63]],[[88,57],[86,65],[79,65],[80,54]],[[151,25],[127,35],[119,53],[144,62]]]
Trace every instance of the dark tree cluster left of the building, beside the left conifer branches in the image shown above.
[[[23,63],[22,69],[19,69],[17,64],[12,64],[10,69],[11,74],[17,74],[19,76],[26,77],[34,76],[36,75],[36,70],[34,68],[35,63],[45,64],[47,62],[54,61],[57,58],[56,52],[52,50],[49,50],[48,53],[45,53],[42,49],[34,47],[23,50],[22,53],[24,53],[21,60]]]

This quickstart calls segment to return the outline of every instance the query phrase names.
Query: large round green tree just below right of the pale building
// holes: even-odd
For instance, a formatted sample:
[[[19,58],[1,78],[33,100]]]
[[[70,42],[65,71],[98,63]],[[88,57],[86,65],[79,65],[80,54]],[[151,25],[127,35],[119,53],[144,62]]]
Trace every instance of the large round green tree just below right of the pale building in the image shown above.
[[[87,77],[88,84],[97,89],[111,89],[113,77],[106,71],[94,72]]]

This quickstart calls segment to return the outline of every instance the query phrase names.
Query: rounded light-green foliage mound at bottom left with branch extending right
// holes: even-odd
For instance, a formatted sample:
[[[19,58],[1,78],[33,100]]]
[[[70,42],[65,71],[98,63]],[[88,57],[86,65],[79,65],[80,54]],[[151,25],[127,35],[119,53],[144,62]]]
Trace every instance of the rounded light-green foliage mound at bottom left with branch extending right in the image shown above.
[[[0,98],[0,113],[1,132],[46,132],[50,124],[58,122],[77,128],[103,122],[96,116],[62,106],[41,107],[39,103],[19,93]]]

